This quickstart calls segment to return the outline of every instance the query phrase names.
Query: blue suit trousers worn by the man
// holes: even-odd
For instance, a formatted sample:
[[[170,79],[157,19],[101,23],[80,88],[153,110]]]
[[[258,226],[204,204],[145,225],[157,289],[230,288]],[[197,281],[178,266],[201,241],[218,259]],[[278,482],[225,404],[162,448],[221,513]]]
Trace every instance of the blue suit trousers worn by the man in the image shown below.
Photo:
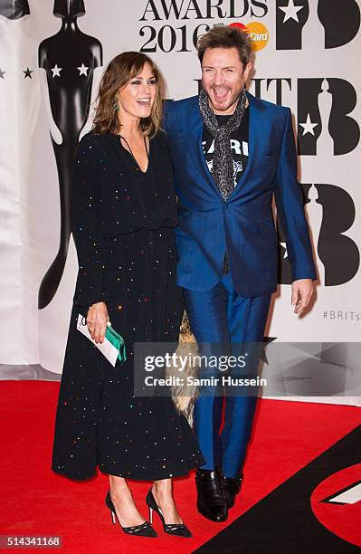
[[[261,343],[270,307],[271,293],[245,298],[234,289],[228,273],[208,291],[183,289],[185,310],[195,339],[200,343]],[[211,347],[212,348],[212,347]],[[222,423],[223,402],[224,425]],[[220,465],[226,477],[242,471],[252,431],[256,396],[202,395],[195,402],[195,435],[206,463],[202,469]]]

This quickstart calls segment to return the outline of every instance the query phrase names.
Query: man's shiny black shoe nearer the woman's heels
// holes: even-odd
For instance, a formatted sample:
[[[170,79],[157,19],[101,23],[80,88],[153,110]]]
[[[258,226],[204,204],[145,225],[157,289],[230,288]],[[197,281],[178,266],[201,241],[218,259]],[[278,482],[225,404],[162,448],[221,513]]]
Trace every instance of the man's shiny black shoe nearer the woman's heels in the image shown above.
[[[226,521],[227,503],[223,492],[222,474],[219,469],[195,471],[197,510],[211,521]]]

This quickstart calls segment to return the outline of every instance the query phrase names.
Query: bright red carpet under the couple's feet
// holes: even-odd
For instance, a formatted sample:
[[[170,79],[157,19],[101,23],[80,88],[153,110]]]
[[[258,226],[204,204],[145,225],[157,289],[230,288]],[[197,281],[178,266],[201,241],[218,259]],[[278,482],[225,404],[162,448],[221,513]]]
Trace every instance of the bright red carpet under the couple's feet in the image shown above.
[[[195,538],[166,536],[157,515],[157,539],[132,538],[110,524],[104,506],[107,476],[100,473],[90,482],[79,483],[50,469],[59,385],[3,381],[0,387],[0,534],[62,535],[62,551],[72,553],[192,552],[361,424],[361,410],[353,406],[261,400],[242,492],[229,520],[216,524],[197,513],[192,475],[177,480],[175,492],[179,511]],[[129,484],[139,509],[147,516],[148,483]]]

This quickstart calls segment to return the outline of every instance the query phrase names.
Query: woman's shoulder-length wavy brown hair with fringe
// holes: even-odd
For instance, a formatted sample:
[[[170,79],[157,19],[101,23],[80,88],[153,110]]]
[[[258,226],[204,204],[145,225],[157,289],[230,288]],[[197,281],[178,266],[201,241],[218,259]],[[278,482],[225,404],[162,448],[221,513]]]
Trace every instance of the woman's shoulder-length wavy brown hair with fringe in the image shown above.
[[[107,69],[100,81],[97,107],[93,122],[93,131],[97,135],[104,133],[118,134],[120,122],[118,117],[119,89],[127,86],[130,79],[142,72],[145,64],[152,68],[157,81],[157,94],[153,103],[151,114],[148,118],[140,119],[140,129],[152,138],[160,129],[162,121],[162,101],[165,91],[165,82],[157,65],[148,56],[139,52],[124,52],[109,62]]]

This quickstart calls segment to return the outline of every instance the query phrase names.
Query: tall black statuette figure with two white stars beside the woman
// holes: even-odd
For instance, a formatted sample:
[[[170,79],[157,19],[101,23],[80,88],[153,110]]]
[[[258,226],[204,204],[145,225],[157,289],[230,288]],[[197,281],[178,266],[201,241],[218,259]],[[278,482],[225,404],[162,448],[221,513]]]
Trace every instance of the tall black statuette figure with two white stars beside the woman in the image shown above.
[[[83,0],[55,0],[53,14],[62,27],[39,47],[43,100],[49,119],[59,177],[61,230],[58,253],[40,286],[38,306],[52,301],[62,279],[71,236],[71,165],[90,111],[94,72],[102,65],[100,41],[82,33]]]

